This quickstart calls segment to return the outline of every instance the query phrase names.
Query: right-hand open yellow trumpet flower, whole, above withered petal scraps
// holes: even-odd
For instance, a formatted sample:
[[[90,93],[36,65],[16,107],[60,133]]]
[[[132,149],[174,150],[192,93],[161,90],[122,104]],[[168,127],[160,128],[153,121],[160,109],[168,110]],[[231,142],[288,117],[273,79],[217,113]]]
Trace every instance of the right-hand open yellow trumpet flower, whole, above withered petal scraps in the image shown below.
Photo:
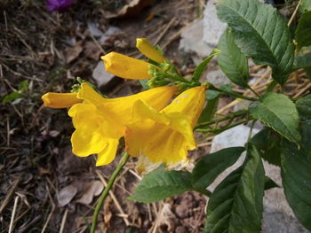
[[[157,112],[143,100],[136,101],[133,121],[125,130],[125,150],[168,166],[187,160],[195,150],[193,128],[203,110],[205,86],[187,89],[171,105]]]

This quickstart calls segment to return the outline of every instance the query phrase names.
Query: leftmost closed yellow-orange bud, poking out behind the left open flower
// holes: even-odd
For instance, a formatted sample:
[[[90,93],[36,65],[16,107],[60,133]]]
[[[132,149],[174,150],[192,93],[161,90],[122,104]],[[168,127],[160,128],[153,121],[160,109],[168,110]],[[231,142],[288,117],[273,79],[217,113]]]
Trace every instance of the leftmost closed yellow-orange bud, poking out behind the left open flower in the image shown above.
[[[51,108],[66,108],[81,103],[82,100],[76,97],[76,93],[54,93],[48,92],[42,96],[44,106]]]

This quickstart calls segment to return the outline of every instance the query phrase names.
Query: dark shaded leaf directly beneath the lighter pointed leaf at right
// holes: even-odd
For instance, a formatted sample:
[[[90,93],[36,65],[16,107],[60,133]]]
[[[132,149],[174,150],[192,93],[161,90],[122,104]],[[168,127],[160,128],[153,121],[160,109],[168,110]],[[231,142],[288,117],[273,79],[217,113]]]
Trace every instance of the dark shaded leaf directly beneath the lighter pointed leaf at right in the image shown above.
[[[251,144],[255,145],[262,159],[270,164],[281,166],[281,138],[270,128],[262,129],[251,138]]]

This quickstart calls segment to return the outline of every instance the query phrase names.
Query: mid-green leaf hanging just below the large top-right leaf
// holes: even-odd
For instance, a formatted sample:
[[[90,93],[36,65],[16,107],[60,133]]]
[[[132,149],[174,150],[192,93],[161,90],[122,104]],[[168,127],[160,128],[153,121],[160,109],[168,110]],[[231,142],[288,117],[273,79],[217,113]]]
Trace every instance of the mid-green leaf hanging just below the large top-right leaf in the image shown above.
[[[229,27],[221,35],[218,43],[221,52],[218,55],[218,63],[227,78],[244,88],[248,87],[249,68],[247,58],[235,44],[235,38]]]

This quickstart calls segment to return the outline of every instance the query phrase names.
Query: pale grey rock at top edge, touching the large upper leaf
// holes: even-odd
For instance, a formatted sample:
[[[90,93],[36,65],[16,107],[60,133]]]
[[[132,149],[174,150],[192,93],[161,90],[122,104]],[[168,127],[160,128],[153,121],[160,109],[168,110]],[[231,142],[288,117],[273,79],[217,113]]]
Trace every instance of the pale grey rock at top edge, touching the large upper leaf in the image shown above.
[[[216,13],[216,0],[209,0],[204,10],[203,18],[203,42],[215,48],[220,35],[226,30],[227,23],[221,22]]]

